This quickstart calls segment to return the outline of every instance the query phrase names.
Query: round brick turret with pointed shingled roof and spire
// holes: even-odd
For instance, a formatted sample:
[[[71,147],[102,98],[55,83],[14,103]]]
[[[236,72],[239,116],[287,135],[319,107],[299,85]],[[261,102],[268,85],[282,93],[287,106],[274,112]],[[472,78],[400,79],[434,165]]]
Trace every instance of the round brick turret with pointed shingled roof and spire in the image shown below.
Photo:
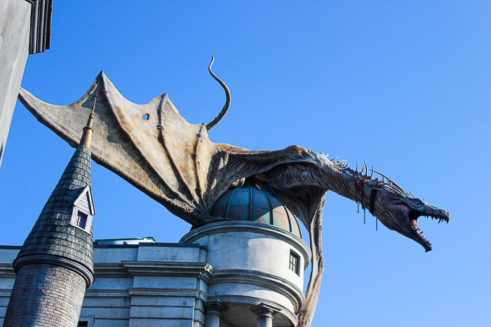
[[[13,262],[17,276],[5,327],[78,324],[86,288],[94,281],[92,120],[93,111],[79,147]]]

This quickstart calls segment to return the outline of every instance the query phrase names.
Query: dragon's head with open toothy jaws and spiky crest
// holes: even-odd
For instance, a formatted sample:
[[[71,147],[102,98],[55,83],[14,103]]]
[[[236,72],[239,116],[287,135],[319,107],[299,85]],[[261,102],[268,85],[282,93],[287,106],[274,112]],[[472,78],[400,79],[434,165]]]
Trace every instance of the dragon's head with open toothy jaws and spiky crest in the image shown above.
[[[386,228],[396,230],[405,237],[414,239],[424,249],[431,251],[431,243],[422,235],[417,219],[426,216],[431,219],[450,221],[450,214],[440,208],[433,207],[412,194],[406,192],[389,179],[388,183],[378,180],[370,195],[370,212],[381,221]]]

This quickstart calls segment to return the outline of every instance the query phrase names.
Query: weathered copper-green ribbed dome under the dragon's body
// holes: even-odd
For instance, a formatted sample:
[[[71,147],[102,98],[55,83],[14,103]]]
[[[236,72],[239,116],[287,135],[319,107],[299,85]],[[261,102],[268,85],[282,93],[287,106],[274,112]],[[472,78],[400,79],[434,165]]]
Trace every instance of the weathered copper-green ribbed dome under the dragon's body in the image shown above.
[[[267,223],[302,238],[300,226],[292,211],[278,197],[251,183],[225,192],[215,202],[212,216],[230,218],[233,221]]]

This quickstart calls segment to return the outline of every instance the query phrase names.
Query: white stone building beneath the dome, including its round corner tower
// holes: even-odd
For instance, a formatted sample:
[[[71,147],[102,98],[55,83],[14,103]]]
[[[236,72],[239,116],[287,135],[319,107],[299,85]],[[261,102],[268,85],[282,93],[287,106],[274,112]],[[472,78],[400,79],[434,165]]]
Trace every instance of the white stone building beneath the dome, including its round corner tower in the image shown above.
[[[0,247],[2,323],[19,249]],[[96,241],[79,326],[296,326],[310,253],[291,232],[250,221],[205,225],[180,244]]]

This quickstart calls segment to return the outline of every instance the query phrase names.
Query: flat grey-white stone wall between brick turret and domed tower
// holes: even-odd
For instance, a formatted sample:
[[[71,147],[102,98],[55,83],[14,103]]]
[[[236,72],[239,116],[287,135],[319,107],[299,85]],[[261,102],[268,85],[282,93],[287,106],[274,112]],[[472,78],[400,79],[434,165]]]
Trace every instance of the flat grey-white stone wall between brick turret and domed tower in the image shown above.
[[[0,246],[0,326],[18,249]],[[92,327],[204,326],[211,267],[199,244],[95,245],[94,258],[95,282],[81,309]]]

